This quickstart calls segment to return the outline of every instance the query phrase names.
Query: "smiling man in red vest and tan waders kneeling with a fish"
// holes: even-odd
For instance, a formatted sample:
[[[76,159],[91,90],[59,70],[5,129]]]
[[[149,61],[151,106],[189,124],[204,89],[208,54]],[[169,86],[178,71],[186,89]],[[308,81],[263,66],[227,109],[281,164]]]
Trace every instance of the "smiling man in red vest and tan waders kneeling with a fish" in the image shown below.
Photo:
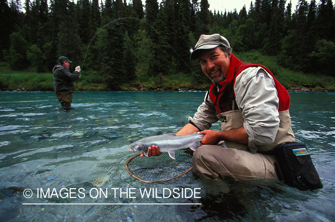
[[[242,63],[219,34],[201,35],[194,59],[212,84],[194,117],[177,132],[205,135],[194,151],[193,170],[212,179],[276,178],[274,147],[295,141],[286,89],[266,67]],[[218,120],[221,131],[210,130]],[[226,146],[217,145],[220,141]],[[148,156],[160,154],[159,147],[149,147]]]

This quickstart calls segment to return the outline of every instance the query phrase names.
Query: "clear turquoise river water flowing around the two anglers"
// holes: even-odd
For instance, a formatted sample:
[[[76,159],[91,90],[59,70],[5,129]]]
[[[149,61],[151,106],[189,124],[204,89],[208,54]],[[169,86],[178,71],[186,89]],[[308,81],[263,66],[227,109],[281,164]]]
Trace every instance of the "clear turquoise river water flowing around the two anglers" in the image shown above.
[[[192,172],[152,184],[131,177],[125,164],[135,153],[125,145],[178,131],[204,94],[74,92],[63,112],[54,92],[0,92],[1,221],[335,221],[335,93],[290,93],[292,128],[311,153],[320,190]],[[163,198],[173,189],[175,197]]]

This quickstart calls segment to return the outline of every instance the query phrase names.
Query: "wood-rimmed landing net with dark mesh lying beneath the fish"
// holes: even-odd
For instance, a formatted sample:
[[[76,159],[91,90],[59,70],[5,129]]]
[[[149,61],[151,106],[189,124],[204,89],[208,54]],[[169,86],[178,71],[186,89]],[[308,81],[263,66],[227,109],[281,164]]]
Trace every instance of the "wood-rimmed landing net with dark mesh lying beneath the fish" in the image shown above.
[[[145,183],[170,181],[186,174],[192,169],[193,150],[177,150],[176,159],[168,153],[160,156],[140,157],[140,154],[128,159],[128,173]]]

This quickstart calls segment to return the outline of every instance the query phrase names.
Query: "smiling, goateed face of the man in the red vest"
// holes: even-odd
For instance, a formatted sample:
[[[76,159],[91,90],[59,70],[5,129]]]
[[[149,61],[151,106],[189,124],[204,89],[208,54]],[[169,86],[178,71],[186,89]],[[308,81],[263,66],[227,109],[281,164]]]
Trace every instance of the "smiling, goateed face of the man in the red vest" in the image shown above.
[[[219,84],[225,80],[227,76],[230,58],[231,52],[227,52],[226,56],[220,46],[212,49],[206,49],[199,56],[202,72],[204,72],[204,74],[210,78],[214,84]]]

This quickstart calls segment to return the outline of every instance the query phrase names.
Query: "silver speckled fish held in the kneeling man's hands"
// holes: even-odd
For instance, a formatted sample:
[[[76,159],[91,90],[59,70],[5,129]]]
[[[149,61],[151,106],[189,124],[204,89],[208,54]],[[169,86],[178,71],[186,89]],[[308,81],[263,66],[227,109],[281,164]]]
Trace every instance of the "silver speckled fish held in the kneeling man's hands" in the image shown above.
[[[199,147],[199,141],[204,138],[204,134],[189,134],[176,136],[175,133],[163,134],[158,136],[149,136],[143,139],[137,140],[128,145],[132,152],[143,152],[144,155],[148,156],[148,147],[156,145],[160,152],[169,153],[170,157],[175,158],[176,150],[190,148],[196,150]]]

